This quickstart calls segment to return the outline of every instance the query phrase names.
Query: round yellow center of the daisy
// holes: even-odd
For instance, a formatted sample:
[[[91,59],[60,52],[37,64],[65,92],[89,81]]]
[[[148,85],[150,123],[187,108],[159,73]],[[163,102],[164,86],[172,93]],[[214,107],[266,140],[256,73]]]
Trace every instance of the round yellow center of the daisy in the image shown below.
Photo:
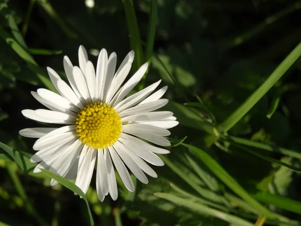
[[[121,119],[115,109],[105,103],[88,104],[76,118],[77,137],[83,144],[95,149],[107,148],[121,134]]]

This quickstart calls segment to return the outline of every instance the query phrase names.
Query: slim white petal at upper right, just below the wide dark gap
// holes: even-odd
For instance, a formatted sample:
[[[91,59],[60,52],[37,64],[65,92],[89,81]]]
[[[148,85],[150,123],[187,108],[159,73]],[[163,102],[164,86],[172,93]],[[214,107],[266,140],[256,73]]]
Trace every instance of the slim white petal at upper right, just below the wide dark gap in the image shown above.
[[[144,99],[146,96],[148,96],[151,92],[153,92],[157,88],[157,86],[160,84],[160,82],[161,82],[161,80],[159,80],[158,82],[127,97],[126,99],[122,100],[115,106],[116,111],[120,112],[120,111],[125,110],[125,109],[135,105],[136,103],[140,102],[142,99]]]

